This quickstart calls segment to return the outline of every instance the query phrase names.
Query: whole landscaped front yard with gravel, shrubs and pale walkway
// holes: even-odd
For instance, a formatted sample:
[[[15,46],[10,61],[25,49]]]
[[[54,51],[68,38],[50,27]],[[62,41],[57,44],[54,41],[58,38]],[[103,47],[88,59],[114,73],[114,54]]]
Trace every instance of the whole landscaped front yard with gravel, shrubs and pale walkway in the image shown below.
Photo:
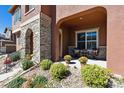
[[[15,57],[16,59],[16,57]],[[67,59],[66,59],[67,60]],[[20,61],[20,62],[18,62]],[[7,88],[115,88],[124,87],[124,78],[112,74],[107,68],[88,64],[89,59],[69,59],[55,62],[49,59],[39,64],[30,59],[13,62],[13,71],[0,75],[0,87]],[[90,60],[91,62],[91,60]],[[83,65],[82,65],[83,64]],[[19,69],[19,70],[18,70]],[[16,73],[15,73],[16,72]],[[9,81],[9,82],[8,82]],[[4,85],[4,86],[3,86]]]

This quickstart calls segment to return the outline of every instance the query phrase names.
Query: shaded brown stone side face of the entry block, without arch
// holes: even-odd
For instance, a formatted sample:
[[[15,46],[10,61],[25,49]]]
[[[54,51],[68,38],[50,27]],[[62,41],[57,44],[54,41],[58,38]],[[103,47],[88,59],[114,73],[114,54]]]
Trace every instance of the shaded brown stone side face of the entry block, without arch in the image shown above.
[[[41,59],[51,59],[51,18],[41,13],[40,53]]]

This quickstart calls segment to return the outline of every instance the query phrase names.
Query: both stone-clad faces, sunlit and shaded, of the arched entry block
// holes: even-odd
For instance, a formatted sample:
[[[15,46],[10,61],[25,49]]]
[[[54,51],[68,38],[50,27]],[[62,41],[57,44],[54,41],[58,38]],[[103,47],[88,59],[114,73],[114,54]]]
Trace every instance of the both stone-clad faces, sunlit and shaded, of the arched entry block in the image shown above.
[[[22,46],[21,56],[24,58],[26,51],[26,32],[31,29],[33,32],[33,58],[35,62],[41,59],[51,59],[51,18],[44,13],[40,18],[21,27],[20,43]]]

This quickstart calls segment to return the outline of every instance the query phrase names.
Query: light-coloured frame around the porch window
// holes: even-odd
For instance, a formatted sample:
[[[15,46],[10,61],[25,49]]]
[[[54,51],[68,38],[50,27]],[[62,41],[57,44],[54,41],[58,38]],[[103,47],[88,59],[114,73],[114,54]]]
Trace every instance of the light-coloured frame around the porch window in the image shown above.
[[[98,48],[99,47],[99,27],[97,27],[97,28],[92,28],[92,29],[85,29],[85,30],[78,30],[78,31],[75,31],[75,37],[76,37],[76,39],[75,39],[75,47],[77,48],[78,47],[78,34],[80,34],[80,33],[85,33],[85,34],[87,34],[87,32],[96,32],[96,48]],[[85,36],[85,40],[86,40],[86,42],[85,42],[85,49],[88,49],[88,47],[87,47],[87,36]]]

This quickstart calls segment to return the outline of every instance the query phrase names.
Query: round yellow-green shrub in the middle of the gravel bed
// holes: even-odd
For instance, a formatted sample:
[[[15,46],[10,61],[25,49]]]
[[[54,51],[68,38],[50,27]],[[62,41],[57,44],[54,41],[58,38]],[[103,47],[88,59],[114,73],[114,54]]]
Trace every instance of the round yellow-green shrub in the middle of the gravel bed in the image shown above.
[[[53,79],[61,80],[67,74],[67,67],[62,63],[53,64],[50,68],[50,74]]]

